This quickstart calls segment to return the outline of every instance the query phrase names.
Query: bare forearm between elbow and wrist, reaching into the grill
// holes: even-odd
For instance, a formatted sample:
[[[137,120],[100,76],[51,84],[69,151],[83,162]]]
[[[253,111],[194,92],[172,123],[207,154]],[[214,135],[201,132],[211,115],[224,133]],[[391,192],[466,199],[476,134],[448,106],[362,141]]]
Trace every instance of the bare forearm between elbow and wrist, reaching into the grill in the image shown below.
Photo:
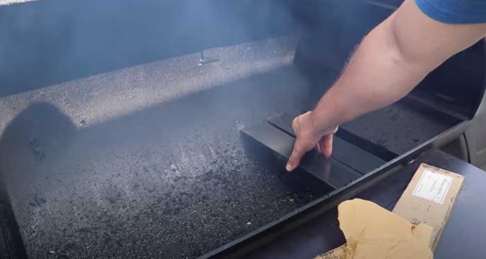
[[[318,128],[339,126],[408,94],[430,67],[414,66],[380,24],[364,37],[342,76],[317,104],[313,116]]]

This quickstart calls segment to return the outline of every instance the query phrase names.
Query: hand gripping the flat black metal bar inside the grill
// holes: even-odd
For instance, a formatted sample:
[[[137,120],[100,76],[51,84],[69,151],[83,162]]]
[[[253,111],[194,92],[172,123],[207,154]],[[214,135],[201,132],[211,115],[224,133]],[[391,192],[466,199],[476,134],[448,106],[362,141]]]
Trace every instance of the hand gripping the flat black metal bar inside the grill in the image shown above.
[[[288,172],[291,172],[299,166],[301,158],[310,149],[317,149],[319,153],[322,153],[327,158],[333,153],[333,134],[336,133],[337,127],[333,126],[322,130],[315,127],[313,119],[312,112],[305,112],[292,121],[296,141],[292,155],[290,155],[287,166],[285,167]]]

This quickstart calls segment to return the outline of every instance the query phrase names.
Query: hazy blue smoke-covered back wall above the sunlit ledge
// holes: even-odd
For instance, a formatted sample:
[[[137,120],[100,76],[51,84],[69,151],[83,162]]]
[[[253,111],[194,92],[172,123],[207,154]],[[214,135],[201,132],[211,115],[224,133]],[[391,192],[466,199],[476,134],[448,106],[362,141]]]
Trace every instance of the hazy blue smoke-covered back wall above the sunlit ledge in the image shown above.
[[[296,2],[50,0],[0,6],[0,95],[291,35],[299,31]]]

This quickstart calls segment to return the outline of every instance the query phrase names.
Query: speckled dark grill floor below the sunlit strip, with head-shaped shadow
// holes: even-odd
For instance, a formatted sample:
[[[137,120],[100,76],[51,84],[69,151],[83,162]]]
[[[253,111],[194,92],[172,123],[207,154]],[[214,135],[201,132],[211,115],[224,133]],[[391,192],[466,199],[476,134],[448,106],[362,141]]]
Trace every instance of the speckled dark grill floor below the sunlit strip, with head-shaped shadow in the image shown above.
[[[323,193],[253,162],[239,133],[305,110],[306,88],[285,67],[81,131],[31,106],[1,143],[19,158],[3,172],[28,255],[193,258],[312,201]]]

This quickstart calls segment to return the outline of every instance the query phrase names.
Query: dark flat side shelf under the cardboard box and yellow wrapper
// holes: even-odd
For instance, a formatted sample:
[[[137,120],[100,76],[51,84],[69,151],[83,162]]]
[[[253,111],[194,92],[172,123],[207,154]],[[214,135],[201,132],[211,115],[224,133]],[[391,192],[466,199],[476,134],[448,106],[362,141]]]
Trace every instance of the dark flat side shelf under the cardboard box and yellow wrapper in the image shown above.
[[[486,195],[486,172],[467,162],[442,151],[430,151],[358,197],[392,210],[421,162],[466,177],[435,251],[435,258],[483,258],[486,253],[483,242],[486,239],[486,208],[482,204]],[[337,222],[337,210],[332,210],[246,258],[314,258],[344,242]]]

